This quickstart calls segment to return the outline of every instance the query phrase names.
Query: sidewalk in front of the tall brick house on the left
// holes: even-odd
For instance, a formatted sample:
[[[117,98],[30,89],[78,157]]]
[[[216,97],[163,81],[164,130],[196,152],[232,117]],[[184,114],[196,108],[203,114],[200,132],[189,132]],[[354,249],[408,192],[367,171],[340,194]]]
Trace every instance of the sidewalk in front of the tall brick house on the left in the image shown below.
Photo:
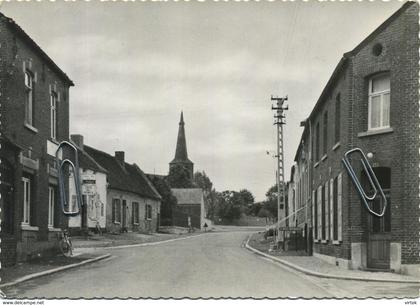
[[[51,274],[69,268],[85,265],[87,263],[100,261],[109,257],[104,252],[97,253],[74,253],[73,257],[65,257],[62,254],[39,258],[28,262],[17,263],[11,267],[3,267],[0,270],[0,287],[14,285],[27,281],[31,278]]]

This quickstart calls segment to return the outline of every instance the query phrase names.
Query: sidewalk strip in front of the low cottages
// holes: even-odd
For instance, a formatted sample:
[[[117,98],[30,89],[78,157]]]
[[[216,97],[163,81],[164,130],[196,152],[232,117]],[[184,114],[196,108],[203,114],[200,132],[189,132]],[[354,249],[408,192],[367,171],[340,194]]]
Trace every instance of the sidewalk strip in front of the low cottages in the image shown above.
[[[158,241],[165,241],[170,239],[177,239],[186,236],[202,234],[204,232],[196,231],[187,234],[167,234],[167,233],[153,233],[141,234],[138,232],[128,232],[121,234],[104,233],[103,235],[92,236],[72,236],[72,244],[75,249],[77,248],[102,248],[102,247],[115,247],[124,245],[136,245],[143,243],[151,243]]]

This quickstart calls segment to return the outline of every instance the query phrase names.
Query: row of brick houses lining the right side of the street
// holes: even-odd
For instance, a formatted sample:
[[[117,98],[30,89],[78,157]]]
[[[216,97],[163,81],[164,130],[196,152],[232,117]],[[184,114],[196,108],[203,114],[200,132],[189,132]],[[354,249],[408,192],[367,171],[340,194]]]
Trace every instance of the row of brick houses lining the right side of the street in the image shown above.
[[[313,255],[347,269],[419,274],[419,4],[406,2],[343,55],[311,113],[288,183],[290,226],[309,228]],[[360,148],[383,189],[370,213],[344,154]],[[372,190],[359,161],[352,167]],[[371,203],[379,213],[381,196]]]

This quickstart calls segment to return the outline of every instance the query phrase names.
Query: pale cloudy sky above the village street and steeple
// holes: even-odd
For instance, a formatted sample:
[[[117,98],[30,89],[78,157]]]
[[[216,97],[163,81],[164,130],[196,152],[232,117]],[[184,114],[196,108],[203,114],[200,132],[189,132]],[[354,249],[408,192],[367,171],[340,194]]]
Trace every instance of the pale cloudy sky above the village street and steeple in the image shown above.
[[[403,2],[0,2],[74,81],[70,132],[167,174],[184,112],[189,159],[218,191],[275,184],[271,95],[288,95],[285,174],[343,53]],[[271,155],[267,154],[271,152]]]

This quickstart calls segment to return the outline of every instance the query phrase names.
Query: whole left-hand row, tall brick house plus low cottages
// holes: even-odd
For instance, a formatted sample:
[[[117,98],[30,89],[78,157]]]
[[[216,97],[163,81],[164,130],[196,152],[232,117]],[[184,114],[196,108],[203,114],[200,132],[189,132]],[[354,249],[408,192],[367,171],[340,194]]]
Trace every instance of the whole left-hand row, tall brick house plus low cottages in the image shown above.
[[[1,262],[55,252],[62,228],[156,231],[160,196],[141,169],[83,144],[78,147],[83,205],[66,217],[59,202],[58,145],[69,139],[72,80],[11,18],[0,13]],[[71,177],[68,201],[76,204]]]

